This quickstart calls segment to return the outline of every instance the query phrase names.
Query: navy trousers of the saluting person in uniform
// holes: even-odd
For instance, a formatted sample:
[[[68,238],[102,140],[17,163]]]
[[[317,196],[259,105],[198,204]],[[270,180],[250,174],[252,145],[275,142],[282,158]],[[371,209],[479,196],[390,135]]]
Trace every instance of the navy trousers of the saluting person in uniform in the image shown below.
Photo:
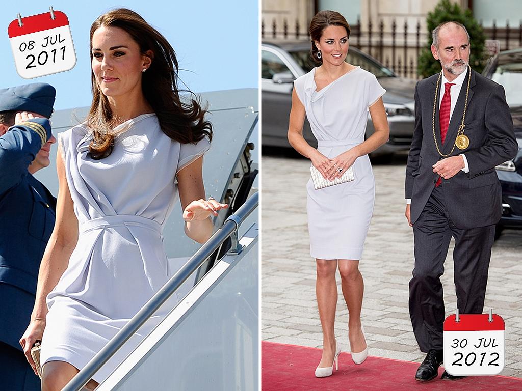
[[[5,388],[4,388],[5,387]],[[40,378],[21,350],[0,342],[0,389],[9,391],[40,391]]]

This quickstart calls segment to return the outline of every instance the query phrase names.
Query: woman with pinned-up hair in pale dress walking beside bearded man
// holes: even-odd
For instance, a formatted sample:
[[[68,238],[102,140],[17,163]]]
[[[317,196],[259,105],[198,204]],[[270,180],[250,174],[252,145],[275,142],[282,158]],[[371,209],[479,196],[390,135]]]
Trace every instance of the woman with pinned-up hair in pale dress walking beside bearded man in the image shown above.
[[[312,161],[325,179],[340,177],[353,167],[355,180],[315,190],[306,186],[310,253],[316,259],[316,295],[323,328],[323,355],[317,377],[333,373],[341,346],[335,338],[336,269],[348,311],[348,337],[356,364],[367,357],[361,307],[364,284],[359,272],[363,244],[374,204],[374,178],[367,156],[388,140],[381,96],[386,92],[375,76],[345,62],[350,27],[334,11],[321,11],[310,23],[312,57],[321,66],[294,81],[288,140]],[[367,113],[375,132],[364,140]],[[305,116],[317,138],[317,149],[303,138]]]

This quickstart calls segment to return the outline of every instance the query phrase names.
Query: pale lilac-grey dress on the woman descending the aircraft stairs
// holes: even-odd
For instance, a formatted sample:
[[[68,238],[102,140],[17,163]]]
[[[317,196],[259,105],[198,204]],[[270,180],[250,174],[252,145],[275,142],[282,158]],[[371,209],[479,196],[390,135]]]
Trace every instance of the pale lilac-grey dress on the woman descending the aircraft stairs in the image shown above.
[[[47,297],[42,364],[57,360],[84,367],[171,276],[162,230],[178,197],[176,174],[210,143],[173,141],[155,114],[120,126],[128,129],[102,160],[88,155],[91,135],[85,125],[58,135],[79,237]],[[103,381],[160,318],[153,317],[94,380]]]

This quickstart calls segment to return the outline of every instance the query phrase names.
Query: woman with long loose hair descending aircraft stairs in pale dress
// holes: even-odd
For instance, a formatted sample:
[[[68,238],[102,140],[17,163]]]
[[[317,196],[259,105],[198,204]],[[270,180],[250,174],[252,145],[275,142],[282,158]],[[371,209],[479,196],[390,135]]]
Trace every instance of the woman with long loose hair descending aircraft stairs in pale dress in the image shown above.
[[[33,368],[29,350],[42,340],[44,391],[62,389],[167,282],[162,229],[178,194],[185,232],[198,242],[212,233],[209,217],[227,207],[205,199],[201,169],[211,124],[196,100],[180,99],[167,40],[124,8],[94,21],[90,39],[93,101],[86,123],[58,137],[56,225],[20,340]],[[102,382],[130,348],[87,387]]]

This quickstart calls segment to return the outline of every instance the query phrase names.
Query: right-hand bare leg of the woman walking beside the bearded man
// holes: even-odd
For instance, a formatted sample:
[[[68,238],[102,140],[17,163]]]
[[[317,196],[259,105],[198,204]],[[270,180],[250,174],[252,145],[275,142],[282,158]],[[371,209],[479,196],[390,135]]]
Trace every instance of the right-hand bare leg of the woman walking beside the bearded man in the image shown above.
[[[359,353],[366,348],[361,331],[361,308],[364,294],[364,280],[359,271],[359,261],[340,259],[339,274],[341,275],[342,296],[348,307],[348,338],[350,350]]]

